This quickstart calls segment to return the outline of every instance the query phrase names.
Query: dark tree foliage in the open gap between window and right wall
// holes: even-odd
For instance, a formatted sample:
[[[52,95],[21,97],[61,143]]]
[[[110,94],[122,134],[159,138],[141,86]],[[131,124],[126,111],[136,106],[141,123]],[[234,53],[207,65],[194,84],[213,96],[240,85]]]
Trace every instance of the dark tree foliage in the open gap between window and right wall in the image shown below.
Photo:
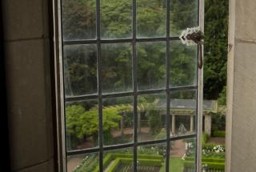
[[[205,2],[204,98],[217,99],[226,86],[228,0]]]

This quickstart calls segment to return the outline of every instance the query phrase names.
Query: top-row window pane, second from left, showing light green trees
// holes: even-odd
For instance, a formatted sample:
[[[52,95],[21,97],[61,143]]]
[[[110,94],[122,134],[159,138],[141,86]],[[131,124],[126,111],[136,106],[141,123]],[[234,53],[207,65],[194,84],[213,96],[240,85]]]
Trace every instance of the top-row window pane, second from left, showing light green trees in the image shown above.
[[[132,1],[101,1],[102,38],[131,38]]]

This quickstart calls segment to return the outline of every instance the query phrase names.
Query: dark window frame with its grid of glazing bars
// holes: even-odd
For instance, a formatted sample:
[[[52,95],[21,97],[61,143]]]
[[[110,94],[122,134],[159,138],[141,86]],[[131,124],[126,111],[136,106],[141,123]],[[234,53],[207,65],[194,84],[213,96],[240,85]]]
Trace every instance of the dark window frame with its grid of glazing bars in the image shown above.
[[[58,123],[58,168],[60,171],[66,170],[66,156],[74,154],[86,154],[92,152],[99,153],[99,167],[100,171],[103,171],[103,150],[116,150],[121,148],[133,147],[134,148],[134,171],[137,171],[137,147],[144,145],[151,145],[156,143],[166,143],[166,171],[169,171],[170,163],[170,142],[186,138],[196,138],[196,169],[201,170],[201,134],[202,134],[202,72],[197,70],[196,81],[198,84],[194,86],[175,86],[170,87],[170,42],[179,40],[178,36],[170,36],[170,3],[171,0],[166,0],[166,37],[158,38],[136,38],[136,16],[137,16],[137,4],[136,0],[133,0],[133,22],[132,22],[132,38],[124,39],[101,39],[100,29],[100,0],[96,0],[96,39],[91,40],[78,40],[78,41],[64,41],[62,39],[62,0],[54,1],[54,38],[55,38],[55,81],[56,84],[56,111],[57,111],[57,123]],[[198,26],[203,28],[203,7],[204,0],[198,0]],[[137,58],[136,58],[136,42],[166,42],[166,88],[155,89],[155,90],[138,90],[137,88]],[[104,43],[121,43],[130,42],[132,44],[132,78],[133,78],[133,91],[122,92],[122,93],[111,93],[102,94],[102,64],[101,64],[101,45]],[[82,44],[96,44],[97,45],[97,69],[98,69],[98,94],[88,94],[81,96],[72,96],[64,98],[64,78],[63,78],[63,65],[62,65],[62,54],[63,46],[66,45],[82,45]],[[177,136],[170,138],[170,93],[174,91],[182,90],[194,90],[196,92],[196,134],[189,134],[184,136]],[[166,92],[166,138],[154,141],[138,142],[138,114],[137,114],[137,99],[138,95],[141,94],[156,94]],[[133,96],[134,97],[134,142],[113,146],[103,146],[102,141],[102,99],[103,98],[118,98],[122,96]],[[98,115],[99,115],[99,139],[98,147],[90,148],[86,150],[70,150],[66,151],[66,138],[65,138],[65,103],[81,100],[89,100],[92,98],[98,98]],[[200,99],[201,98],[201,99]],[[199,100],[200,99],[200,100]],[[200,165],[200,166],[199,166]]]

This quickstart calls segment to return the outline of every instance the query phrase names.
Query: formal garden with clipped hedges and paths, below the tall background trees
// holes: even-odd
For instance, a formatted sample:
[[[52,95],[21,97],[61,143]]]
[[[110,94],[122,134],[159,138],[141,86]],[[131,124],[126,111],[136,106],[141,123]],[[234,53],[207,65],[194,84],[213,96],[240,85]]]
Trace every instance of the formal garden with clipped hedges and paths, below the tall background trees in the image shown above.
[[[161,97],[160,98],[164,98]],[[133,140],[133,116],[130,98],[122,98],[104,102],[103,108],[103,141],[104,145],[128,143]],[[138,105],[139,112],[146,116],[141,129],[147,129],[143,139],[166,138],[165,118],[161,115],[161,107],[158,106],[159,96],[146,96]],[[88,104],[89,103],[89,104]],[[86,149],[98,144],[98,111],[95,102],[81,102],[80,104],[66,106],[66,127],[68,137],[67,146],[70,150]],[[85,109],[87,108],[87,110]],[[211,112],[212,134],[202,135],[202,165],[208,170],[224,171],[225,166],[225,115],[221,112]],[[129,118],[130,117],[130,118]],[[122,121],[123,119],[123,121]],[[145,118],[142,118],[145,119]],[[156,125],[159,124],[159,125]],[[181,125],[177,132],[184,132]],[[82,130],[83,129],[83,130]],[[128,130],[131,130],[128,132]],[[78,132],[79,131],[79,132]],[[142,131],[141,131],[142,132]],[[143,133],[143,132],[142,132]],[[142,134],[141,133],[141,134]],[[186,134],[190,134],[187,131]],[[217,138],[217,142],[216,142]],[[220,141],[220,142],[219,142]],[[89,147],[79,147],[85,142],[90,142]],[[88,144],[86,144],[88,146]],[[194,139],[184,139],[170,144],[170,169],[175,172],[194,171],[195,166],[195,142]],[[69,157],[74,163],[74,171],[99,171],[98,154],[84,154]],[[75,159],[75,160],[74,160]],[[166,145],[138,146],[138,171],[165,171]],[[68,162],[69,163],[69,162]],[[132,171],[133,150],[108,150],[104,151],[104,171]]]

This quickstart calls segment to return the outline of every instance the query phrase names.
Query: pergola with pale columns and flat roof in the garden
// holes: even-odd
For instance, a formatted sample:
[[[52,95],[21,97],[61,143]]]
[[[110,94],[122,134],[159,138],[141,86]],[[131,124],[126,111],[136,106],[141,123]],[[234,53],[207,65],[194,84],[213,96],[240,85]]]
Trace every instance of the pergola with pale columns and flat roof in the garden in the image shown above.
[[[154,106],[155,110],[159,110],[160,115],[166,115],[166,100],[159,99],[154,105],[152,103],[138,104],[138,132],[141,132],[141,113],[145,112]],[[109,107],[109,106],[108,106]],[[117,105],[114,106],[120,109],[122,118],[120,120],[121,134],[124,134],[124,114],[132,113],[133,108],[131,105]],[[210,112],[217,112],[218,102],[214,100],[203,101],[203,116],[204,116],[204,131],[211,134],[211,114]],[[190,116],[190,132],[194,131],[194,118],[196,115],[196,102],[194,99],[171,99],[170,100],[170,115],[171,115],[171,132],[175,134],[176,130],[176,117],[177,116]]]

